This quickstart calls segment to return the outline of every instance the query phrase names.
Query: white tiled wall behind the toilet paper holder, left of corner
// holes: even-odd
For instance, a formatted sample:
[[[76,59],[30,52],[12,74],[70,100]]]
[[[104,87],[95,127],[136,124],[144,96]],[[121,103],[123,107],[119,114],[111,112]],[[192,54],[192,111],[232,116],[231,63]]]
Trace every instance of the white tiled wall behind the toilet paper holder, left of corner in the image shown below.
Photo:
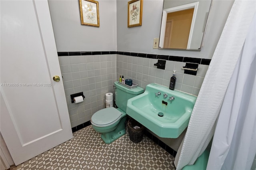
[[[116,54],[60,56],[59,60],[71,126],[76,127],[105,107],[106,93],[114,93]],[[84,93],[84,101],[71,103],[70,95],[79,92]]]

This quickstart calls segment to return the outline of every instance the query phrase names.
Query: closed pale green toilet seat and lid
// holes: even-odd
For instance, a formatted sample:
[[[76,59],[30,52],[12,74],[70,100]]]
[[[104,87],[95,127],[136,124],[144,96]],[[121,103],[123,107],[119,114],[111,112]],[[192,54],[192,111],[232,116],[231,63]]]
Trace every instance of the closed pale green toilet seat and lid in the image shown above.
[[[114,107],[101,109],[92,115],[91,123],[96,127],[107,127],[113,125],[122,117],[122,113]]]

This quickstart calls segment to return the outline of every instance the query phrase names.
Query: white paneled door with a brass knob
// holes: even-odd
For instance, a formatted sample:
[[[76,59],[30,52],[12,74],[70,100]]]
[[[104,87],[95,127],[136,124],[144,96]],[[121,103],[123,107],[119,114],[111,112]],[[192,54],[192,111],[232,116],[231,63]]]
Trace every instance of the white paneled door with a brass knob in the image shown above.
[[[72,130],[47,0],[0,1],[0,8],[0,131],[18,165]]]

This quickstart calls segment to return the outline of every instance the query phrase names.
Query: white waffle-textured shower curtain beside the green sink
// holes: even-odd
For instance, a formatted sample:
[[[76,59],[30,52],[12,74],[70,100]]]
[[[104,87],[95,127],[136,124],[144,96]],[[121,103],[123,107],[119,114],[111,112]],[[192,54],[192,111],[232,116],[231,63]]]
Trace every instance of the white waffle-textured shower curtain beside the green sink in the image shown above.
[[[174,164],[192,165],[208,146],[215,122],[256,11],[255,0],[235,0],[198,94],[188,129]]]

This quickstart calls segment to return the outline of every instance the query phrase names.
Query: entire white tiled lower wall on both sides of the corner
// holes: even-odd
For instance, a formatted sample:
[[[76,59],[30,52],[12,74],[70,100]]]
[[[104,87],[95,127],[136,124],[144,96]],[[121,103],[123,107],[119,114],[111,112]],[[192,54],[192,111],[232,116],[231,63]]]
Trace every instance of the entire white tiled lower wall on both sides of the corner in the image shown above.
[[[144,89],[150,83],[169,87],[176,70],[175,89],[197,96],[208,69],[208,65],[199,65],[196,76],[188,75],[181,69],[183,62],[166,61],[166,69],[162,70],[154,66],[157,59],[119,54],[60,56],[59,60],[72,127],[89,121],[104,108],[105,94],[114,93],[114,81],[120,75]],[[79,92],[84,93],[84,101],[71,103],[70,95]]]

